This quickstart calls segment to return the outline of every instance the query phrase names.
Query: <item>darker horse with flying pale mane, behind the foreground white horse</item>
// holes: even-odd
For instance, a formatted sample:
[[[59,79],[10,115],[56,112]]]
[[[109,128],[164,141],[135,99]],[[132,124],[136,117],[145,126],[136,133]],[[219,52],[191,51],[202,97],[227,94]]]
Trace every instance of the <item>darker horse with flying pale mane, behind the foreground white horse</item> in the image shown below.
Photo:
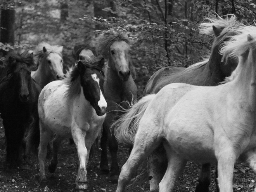
[[[229,17],[228,17],[229,16]],[[144,95],[157,93],[161,88],[170,83],[189,83],[191,85],[215,86],[218,85],[225,77],[229,76],[237,66],[237,59],[227,58],[221,61],[220,54],[221,43],[228,41],[232,36],[237,34],[237,29],[241,24],[236,20],[234,15],[217,17],[216,19],[207,18],[209,22],[202,23],[200,26],[201,33],[214,35],[214,42],[211,49],[211,55],[208,59],[196,63],[188,68],[185,67],[164,67],[154,73],[149,79]],[[159,169],[164,168],[164,170]],[[147,161],[147,171],[152,176],[150,182],[150,192],[158,191],[158,184],[164,176],[167,168],[167,157],[163,146],[152,153]],[[217,171],[216,171],[217,173]],[[199,176],[199,184],[195,192],[208,192],[211,183],[211,164],[203,164]],[[217,189],[218,190],[218,189]]]

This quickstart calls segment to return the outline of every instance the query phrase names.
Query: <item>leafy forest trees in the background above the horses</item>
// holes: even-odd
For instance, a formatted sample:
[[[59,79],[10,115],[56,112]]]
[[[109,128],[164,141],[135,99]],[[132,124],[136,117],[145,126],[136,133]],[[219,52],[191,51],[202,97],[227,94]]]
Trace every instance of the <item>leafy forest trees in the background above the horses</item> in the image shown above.
[[[213,37],[198,30],[204,17],[235,14],[245,24],[256,21],[255,0],[2,0],[0,8],[0,57],[45,41],[64,46],[68,67],[75,45],[93,44],[107,29],[128,32],[139,95],[157,69],[189,66],[210,52]]]

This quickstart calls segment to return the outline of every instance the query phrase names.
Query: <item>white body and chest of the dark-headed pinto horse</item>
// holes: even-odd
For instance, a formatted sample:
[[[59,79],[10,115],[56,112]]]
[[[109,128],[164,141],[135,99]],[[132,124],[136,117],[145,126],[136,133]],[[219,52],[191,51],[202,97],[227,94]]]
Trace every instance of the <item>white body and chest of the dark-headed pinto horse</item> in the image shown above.
[[[59,86],[61,86],[61,88],[57,89]],[[44,98],[47,98],[42,102],[43,109],[47,108],[48,112],[42,115],[45,118],[44,122],[51,127],[52,131],[63,137],[72,138],[72,121],[76,121],[79,128],[85,131],[94,129],[98,124],[101,124],[99,119],[103,121],[105,115],[97,116],[95,109],[93,109],[83,94],[74,97],[73,102],[69,103],[66,99],[66,95],[63,94],[65,90],[67,90],[67,86],[63,84],[62,81],[52,81],[46,85],[42,91]],[[81,93],[83,93],[82,87]],[[62,95],[62,97],[59,97],[59,95]],[[59,110],[59,106],[62,106],[61,111]],[[42,111],[39,113],[42,113]],[[85,121],[85,117],[89,116],[92,116],[92,118]],[[97,123],[95,124],[95,122]]]

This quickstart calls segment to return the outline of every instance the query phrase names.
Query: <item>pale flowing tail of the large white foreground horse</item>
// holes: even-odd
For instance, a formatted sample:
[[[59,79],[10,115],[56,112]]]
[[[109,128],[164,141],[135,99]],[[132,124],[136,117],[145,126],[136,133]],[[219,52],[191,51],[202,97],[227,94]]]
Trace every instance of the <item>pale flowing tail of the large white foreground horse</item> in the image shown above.
[[[112,124],[111,130],[113,131],[111,131],[111,133],[114,132],[119,142],[129,146],[133,145],[140,119],[155,95],[156,94],[146,95],[137,103],[131,104],[129,109],[124,109],[125,114]]]

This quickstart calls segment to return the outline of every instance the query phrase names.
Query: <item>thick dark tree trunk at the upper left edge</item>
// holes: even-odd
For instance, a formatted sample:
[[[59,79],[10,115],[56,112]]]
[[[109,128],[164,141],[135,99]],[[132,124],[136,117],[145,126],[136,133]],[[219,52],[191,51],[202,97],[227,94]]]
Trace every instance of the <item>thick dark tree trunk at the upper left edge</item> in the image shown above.
[[[0,42],[14,44],[15,10],[1,10]]]

